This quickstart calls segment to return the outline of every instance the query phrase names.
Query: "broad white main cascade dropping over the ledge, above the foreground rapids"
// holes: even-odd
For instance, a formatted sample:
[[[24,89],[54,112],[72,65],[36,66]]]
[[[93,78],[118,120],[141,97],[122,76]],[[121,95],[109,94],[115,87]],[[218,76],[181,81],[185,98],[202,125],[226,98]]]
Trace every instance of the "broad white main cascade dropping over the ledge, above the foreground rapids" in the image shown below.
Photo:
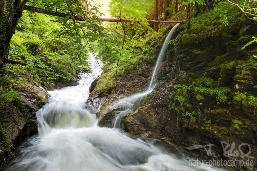
[[[101,65],[101,66],[100,66]],[[94,81],[100,71],[102,63],[91,61],[91,74],[81,73],[77,86],[64,87],[60,90],[47,92],[49,103],[38,110],[38,132],[39,135],[48,134],[51,128],[81,128],[90,127],[96,122],[96,115],[91,114],[85,108],[85,101],[89,95],[89,86]],[[43,88],[43,87],[42,87]],[[43,89],[46,91],[45,89]],[[70,100],[67,100],[70,99]]]

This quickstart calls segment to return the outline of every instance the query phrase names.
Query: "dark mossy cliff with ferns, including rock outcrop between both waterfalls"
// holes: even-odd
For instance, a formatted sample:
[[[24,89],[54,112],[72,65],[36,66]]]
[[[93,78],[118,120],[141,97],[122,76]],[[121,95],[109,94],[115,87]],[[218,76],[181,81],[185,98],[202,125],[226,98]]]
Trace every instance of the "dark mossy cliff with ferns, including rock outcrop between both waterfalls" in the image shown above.
[[[246,162],[249,158],[240,155],[225,157],[221,141],[230,145],[234,142],[235,148],[231,150],[241,150],[244,154],[249,152],[249,147],[238,146],[247,143],[252,150],[249,156],[253,166],[228,169],[254,170],[257,167],[257,59],[253,55],[257,53],[257,46],[254,43],[242,47],[256,36],[257,24],[236,8],[229,10],[230,26],[227,27],[215,11],[193,18],[190,31],[186,25],[180,25],[161,65],[160,77],[166,82],[126,116],[123,123],[125,131],[133,136],[162,139],[184,153],[205,160]],[[210,19],[206,21],[207,16]],[[146,46],[159,47],[159,36],[153,36],[155,39],[146,42]],[[134,69],[129,78],[140,76],[140,83],[148,80],[150,72],[140,73],[143,66]],[[125,87],[121,84],[122,78],[110,95],[99,96],[94,90],[89,97],[87,103],[97,106],[94,110],[98,112],[100,125],[111,126],[115,111],[119,110],[115,101],[135,90],[139,92],[142,86],[135,82],[134,86]],[[99,90],[101,86],[96,87]],[[131,88],[134,91],[122,93]],[[187,150],[189,146],[209,143],[213,144],[211,150],[215,157],[208,156],[203,148]]]

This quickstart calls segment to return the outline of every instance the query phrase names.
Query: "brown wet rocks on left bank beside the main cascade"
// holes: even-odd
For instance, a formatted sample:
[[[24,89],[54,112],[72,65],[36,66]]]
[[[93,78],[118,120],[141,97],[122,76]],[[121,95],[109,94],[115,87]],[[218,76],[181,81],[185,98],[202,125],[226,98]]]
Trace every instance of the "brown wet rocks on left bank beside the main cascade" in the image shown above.
[[[27,91],[22,92],[24,106],[14,106],[9,104],[6,110],[0,115],[1,126],[10,142],[19,144],[27,136],[38,133],[38,122],[36,111],[48,102],[48,95],[41,88],[35,85],[27,85]],[[22,111],[26,109],[24,116]],[[0,145],[0,152],[6,153],[3,144]]]

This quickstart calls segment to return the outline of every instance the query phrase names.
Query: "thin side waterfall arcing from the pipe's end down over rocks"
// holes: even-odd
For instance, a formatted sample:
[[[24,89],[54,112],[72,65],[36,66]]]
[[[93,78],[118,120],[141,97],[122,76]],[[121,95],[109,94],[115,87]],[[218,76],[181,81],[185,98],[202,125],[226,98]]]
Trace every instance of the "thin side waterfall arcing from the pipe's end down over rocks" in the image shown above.
[[[149,83],[148,89],[143,93],[133,94],[129,97],[123,98],[118,101],[118,104],[120,104],[122,106],[122,110],[119,112],[119,114],[116,114],[116,116],[115,116],[114,123],[113,123],[114,128],[123,129],[122,119],[124,118],[124,116],[128,115],[129,113],[132,113],[134,111],[134,109],[140,103],[142,103],[142,101],[146,97],[148,97],[150,95],[150,93],[153,91],[153,89],[156,87],[156,84],[153,85],[153,82],[156,77],[155,75],[159,72],[159,66],[160,66],[161,62],[163,61],[163,58],[166,54],[166,50],[168,47],[167,41],[170,40],[173,32],[175,31],[175,29],[177,28],[178,25],[179,25],[179,23],[176,24],[174,27],[172,27],[171,31],[169,32],[168,36],[166,37],[166,39],[162,45],[161,51],[157,58],[157,62],[154,66],[152,78]]]

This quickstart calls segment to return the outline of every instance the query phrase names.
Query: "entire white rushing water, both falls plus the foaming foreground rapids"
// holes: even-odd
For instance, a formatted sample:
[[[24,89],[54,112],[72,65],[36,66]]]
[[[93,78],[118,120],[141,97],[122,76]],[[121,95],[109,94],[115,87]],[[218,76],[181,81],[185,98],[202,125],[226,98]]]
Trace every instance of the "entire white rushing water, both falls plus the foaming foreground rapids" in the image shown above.
[[[173,28],[174,31],[176,27]],[[166,45],[166,41],[164,44]],[[90,113],[85,107],[89,86],[101,72],[99,64],[102,66],[102,63],[92,61],[92,73],[80,74],[81,79],[77,86],[48,92],[49,103],[36,113],[39,134],[32,136],[16,149],[17,158],[8,164],[10,168],[7,170],[222,170],[208,165],[189,166],[189,158],[182,153],[169,153],[155,146],[150,139],[132,139],[120,129],[121,120],[117,118],[133,112],[152,92],[152,80],[158,67],[154,69],[149,88],[145,92],[119,100],[118,103],[123,106],[120,111],[122,115],[116,117],[114,128],[99,127],[96,114]]]

